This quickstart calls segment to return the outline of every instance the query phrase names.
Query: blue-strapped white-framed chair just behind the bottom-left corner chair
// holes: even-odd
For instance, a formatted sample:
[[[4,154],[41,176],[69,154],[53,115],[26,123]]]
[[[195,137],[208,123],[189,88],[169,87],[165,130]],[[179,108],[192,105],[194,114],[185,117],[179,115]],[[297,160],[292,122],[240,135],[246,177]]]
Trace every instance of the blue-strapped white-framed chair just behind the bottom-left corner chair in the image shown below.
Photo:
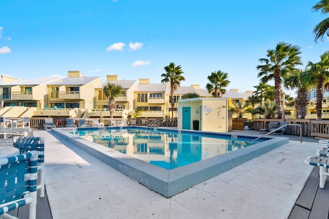
[[[40,197],[45,196],[45,138],[44,137],[14,137],[13,145],[21,153],[38,151],[38,170],[40,170]]]

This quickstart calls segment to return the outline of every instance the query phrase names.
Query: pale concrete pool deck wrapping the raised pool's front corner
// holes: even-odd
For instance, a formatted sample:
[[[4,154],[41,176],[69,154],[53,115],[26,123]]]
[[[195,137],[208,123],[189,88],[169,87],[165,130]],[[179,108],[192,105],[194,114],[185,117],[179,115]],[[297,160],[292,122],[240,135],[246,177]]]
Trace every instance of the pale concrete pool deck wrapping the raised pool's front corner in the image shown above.
[[[290,141],[171,198],[48,131],[45,183],[53,218],[287,218],[323,144]],[[62,141],[62,142],[61,142]]]

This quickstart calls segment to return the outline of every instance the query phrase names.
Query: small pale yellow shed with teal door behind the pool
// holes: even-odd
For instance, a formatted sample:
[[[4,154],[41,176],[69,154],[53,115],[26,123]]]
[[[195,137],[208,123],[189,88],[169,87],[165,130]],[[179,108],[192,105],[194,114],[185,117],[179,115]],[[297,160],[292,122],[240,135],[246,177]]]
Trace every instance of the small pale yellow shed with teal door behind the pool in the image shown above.
[[[178,101],[177,128],[228,131],[228,98],[190,98]]]

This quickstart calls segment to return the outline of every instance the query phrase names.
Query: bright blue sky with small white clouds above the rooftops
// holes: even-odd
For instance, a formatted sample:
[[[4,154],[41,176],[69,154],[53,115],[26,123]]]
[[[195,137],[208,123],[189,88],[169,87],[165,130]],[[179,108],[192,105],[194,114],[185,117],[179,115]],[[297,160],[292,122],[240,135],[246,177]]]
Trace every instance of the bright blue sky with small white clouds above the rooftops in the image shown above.
[[[21,79],[118,74],[160,83],[174,62],[182,86],[205,88],[207,76],[227,72],[227,89],[254,90],[255,69],[266,51],[298,45],[302,61],[318,62],[328,38],[312,33],[326,18],[312,12],[319,0],[300,1],[0,1],[0,74]],[[302,68],[302,66],[300,66]]]

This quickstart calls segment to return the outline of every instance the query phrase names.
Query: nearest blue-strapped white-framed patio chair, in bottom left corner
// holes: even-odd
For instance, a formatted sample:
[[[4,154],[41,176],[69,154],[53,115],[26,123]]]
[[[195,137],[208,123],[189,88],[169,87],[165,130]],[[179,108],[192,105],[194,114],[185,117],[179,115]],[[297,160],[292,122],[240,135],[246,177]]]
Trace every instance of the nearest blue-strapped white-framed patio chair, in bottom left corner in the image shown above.
[[[13,218],[7,212],[29,205],[29,218],[35,219],[37,161],[37,151],[0,159],[0,217]]]

